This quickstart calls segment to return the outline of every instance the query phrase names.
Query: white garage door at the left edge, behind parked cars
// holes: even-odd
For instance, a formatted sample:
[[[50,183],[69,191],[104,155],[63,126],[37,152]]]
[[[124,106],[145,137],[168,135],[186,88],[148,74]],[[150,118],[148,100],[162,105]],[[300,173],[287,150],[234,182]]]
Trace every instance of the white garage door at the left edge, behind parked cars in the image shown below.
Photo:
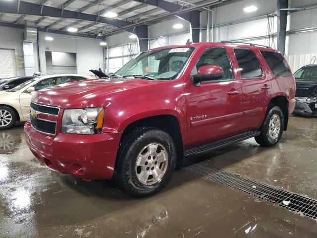
[[[16,76],[15,53],[11,49],[0,49],[0,76]]]

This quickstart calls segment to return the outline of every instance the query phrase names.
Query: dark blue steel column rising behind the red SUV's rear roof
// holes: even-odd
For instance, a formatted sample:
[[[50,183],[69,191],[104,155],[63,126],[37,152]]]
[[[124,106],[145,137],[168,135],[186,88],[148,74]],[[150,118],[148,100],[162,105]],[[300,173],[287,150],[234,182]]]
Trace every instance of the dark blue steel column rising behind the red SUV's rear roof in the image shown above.
[[[285,53],[288,0],[277,0],[277,50]]]

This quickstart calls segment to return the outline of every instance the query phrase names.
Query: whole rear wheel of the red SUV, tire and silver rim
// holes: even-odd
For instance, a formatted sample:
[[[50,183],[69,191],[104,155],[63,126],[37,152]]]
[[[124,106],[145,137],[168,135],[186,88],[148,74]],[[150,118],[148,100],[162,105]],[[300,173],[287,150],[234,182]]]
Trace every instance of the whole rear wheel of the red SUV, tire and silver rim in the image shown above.
[[[265,116],[261,134],[256,136],[257,143],[263,146],[277,144],[283,134],[284,115],[280,107],[272,107]]]

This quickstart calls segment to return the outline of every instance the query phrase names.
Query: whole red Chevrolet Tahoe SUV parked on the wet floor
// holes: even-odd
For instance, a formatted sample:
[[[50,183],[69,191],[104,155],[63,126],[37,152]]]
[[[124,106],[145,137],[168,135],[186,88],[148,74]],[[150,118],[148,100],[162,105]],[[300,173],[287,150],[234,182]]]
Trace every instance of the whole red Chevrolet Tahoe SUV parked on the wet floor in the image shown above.
[[[52,170],[137,197],[186,157],[251,137],[275,145],[296,102],[282,54],[246,43],[153,49],[105,76],[36,92],[25,140]]]

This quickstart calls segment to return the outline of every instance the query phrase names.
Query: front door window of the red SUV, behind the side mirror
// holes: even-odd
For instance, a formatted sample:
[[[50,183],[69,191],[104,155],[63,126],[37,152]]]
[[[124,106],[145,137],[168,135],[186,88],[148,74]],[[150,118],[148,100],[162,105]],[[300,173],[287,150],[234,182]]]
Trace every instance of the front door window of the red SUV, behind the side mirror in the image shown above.
[[[223,48],[210,48],[203,53],[198,60],[192,73],[197,73],[198,69],[205,65],[218,65],[223,69],[222,79],[233,79],[232,68],[227,51]]]

